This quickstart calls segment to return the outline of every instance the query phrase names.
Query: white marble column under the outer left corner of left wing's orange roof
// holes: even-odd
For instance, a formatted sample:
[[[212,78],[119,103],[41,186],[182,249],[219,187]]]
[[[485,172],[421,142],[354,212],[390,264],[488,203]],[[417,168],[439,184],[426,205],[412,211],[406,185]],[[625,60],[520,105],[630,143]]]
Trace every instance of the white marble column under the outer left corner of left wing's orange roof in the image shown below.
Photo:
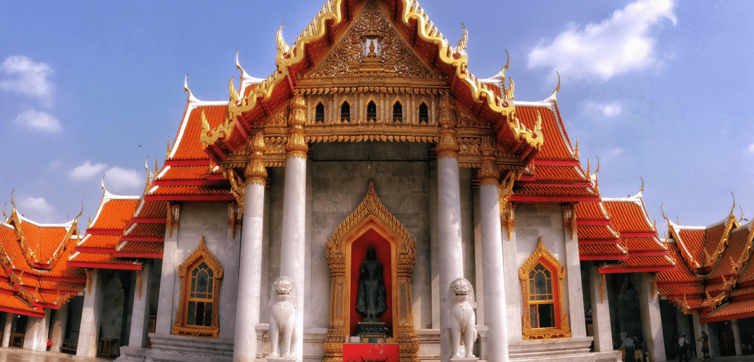
[[[78,329],[77,357],[97,357],[97,333],[100,331],[100,309],[103,290],[100,288],[100,269],[87,269],[87,287],[84,287],[84,307],[81,309],[81,326]]]

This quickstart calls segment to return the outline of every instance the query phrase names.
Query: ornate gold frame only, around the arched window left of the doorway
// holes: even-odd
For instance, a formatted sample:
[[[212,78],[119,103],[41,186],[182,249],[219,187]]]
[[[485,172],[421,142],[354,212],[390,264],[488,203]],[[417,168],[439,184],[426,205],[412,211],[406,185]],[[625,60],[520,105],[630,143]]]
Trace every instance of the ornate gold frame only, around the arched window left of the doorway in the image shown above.
[[[189,287],[189,284],[192,279],[190,275],[186,278],[186,272],[190,272],[189,267],[192,265],[198,265],[200,260],[206,262],[214,272],[212,284],[212,324],[210,324],[210,326],[190,326],[186,324],[186,318],[188,317],[186,311],[189,308],[189,293],[191,293],[191,287]],[[178,336],[219,338],[220,324],[218,310],[222,274],[222,265],[220,265],[217,259],[215,259],[215,256],[210,253],[210,250],[207,249],[207,245],[204,244],[204,237],[201,237],[199,246],[178,268],[181,292],[179,294],[180,301],[178,303],[178,311],[176,311],[176,321],[173,323],[172,334]]]

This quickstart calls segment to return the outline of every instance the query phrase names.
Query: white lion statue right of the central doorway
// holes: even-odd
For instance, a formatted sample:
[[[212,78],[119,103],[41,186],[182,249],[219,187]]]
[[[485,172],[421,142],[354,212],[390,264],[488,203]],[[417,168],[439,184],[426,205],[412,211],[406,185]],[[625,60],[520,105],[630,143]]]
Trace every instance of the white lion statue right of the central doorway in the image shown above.
[[[474,287],[466,278],[457,278],[448,286],[448,301],[446,308],[450,310],[450,333],[452,335],[453,356],[451,358],[475,358],[474,341],[477,340],[477,317],[474,309],[477,302],[474,298]],[[461,342],[466,347],[465,356],[461,354]]]

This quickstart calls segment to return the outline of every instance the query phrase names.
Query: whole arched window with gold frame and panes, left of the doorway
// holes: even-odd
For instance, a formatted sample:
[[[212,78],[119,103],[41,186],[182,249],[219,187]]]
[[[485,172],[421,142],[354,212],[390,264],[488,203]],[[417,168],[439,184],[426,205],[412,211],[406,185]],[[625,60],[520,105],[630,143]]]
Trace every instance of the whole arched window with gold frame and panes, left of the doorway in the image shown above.
[[[222,266],[201,238],[199,247],[178,268],[181,292],[173,334],[219,338],[222,273]]]

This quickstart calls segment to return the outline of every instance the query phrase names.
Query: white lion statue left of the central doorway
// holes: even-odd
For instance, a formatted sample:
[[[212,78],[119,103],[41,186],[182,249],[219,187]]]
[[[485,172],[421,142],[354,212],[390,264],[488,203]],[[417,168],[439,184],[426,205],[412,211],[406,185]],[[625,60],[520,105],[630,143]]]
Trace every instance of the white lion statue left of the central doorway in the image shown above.
[[[270,290],[270,314],[272,321],[268,330],[270,354],[268,357],[293,358],[296,349],[296,308],[299,308],[299,288],[288,277],[277,278]],[[282,345],[282,347],[280,347]],[[280,354],[278,354],[280,348]]]

